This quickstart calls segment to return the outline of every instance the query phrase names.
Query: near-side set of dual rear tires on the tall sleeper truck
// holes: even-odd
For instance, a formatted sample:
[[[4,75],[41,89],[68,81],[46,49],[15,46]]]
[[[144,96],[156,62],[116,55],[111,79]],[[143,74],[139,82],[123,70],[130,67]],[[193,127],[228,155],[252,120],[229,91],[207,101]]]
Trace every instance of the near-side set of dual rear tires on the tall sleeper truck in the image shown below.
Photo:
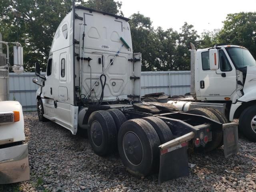
[[[131,174],[157,172],[158,146],[173,139],[167,124],[156,117],[126,121],[120,110],[93,112],[88,120],[88,138],[93,151],[106,156],[116,151]]]

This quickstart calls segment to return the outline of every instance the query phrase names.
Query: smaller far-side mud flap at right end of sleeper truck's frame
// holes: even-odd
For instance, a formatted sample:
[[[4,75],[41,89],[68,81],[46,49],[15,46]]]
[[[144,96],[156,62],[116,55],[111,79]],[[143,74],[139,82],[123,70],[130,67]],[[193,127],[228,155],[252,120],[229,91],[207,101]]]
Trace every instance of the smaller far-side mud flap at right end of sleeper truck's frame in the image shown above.
[[[223,129],[224,156],[225,158],[228,158],[239,151],[238,124],[226,123],[226,124],[223,124],[222,129]]]

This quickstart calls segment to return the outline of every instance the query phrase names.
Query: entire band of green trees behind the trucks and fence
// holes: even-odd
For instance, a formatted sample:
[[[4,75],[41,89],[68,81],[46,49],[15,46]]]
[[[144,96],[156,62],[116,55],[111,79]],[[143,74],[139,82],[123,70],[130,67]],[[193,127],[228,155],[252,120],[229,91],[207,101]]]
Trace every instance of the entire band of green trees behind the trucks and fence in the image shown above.
[[[76,4],[123,15],[122,2],[114,0],[75,0]],[[39,61],[43,71],[54,33],[68,12],[72,0],[0,0],[0,32],[3,40],[24,46],[24,71],[34,71]],[[142,71],[190,70],[190,42],[196,48],[228,43],[245,46],[256,57],[256,13],[228,14],[221,30],[204,31],[200,36],[187,22],[180,31],[154,29],[143,14],[130,16],[134,52],[142,53]],[[17,35],[18,31],[18,35]],[[10,55],[11,58],[11,55]],[[12,60],[10,60],[12,64]]]

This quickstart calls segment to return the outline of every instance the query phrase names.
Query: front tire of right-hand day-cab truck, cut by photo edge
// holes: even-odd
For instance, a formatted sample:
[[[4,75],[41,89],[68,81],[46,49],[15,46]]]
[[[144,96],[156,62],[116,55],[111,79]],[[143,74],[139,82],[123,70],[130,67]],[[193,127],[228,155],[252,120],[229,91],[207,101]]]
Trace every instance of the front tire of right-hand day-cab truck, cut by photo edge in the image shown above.
[[[239,128],[250,141],[256,142],[256,105],[242,112],[239,118]]]

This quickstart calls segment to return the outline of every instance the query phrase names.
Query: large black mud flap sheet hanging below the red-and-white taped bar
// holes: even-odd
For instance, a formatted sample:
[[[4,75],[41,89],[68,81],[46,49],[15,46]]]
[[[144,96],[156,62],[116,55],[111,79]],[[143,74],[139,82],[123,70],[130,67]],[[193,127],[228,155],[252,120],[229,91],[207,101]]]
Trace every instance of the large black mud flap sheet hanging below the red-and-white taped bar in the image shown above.
[[[158,183],[189,175],[188,142],[161,150]]]

